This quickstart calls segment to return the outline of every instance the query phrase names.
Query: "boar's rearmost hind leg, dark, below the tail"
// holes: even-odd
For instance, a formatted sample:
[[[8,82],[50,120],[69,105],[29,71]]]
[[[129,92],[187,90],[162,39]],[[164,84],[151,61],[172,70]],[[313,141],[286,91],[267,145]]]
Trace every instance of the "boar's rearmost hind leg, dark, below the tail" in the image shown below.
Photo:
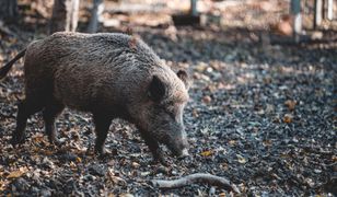
[[[11,141],[13,146],[24,141],[25,128],[28,117],[43,108],[40,104],[33,101],[34,100],[25,99],[18,106],[19,111],[16,115],[16,128],[12,134]]]

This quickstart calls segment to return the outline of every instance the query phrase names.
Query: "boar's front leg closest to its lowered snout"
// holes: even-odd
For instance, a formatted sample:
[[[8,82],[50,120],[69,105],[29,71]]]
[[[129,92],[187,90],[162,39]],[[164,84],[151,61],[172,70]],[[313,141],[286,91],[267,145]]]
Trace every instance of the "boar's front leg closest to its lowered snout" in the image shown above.
[[[144,139],[146,144],[149,147],[150,151],[152,152],[154,162],[160,162],[163,165],[167,165],[166,160],[163,158],[162,151],[158,141],[150,136],[150,134],[146,131],[140,131],[141,137]]]

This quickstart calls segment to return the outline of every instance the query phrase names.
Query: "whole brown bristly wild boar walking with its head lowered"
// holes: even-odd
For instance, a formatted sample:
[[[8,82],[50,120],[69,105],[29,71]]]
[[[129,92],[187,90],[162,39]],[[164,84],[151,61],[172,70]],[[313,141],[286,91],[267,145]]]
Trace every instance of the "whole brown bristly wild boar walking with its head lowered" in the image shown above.
[[[55,120],[68,106],[93,114],[98,153],[104,153],[112,119],[123,118],[137,126],[154,159],[163,159],[159,143],[176,155],[187,154],[187,73],[173,72],[142,40],[125,34],[55,33],[31,43],[0,69],[0,78],[23,56],[25,100],[19,104],[13,144],[24,141],[26,120],[38,111],[49,140],[57,142]]]

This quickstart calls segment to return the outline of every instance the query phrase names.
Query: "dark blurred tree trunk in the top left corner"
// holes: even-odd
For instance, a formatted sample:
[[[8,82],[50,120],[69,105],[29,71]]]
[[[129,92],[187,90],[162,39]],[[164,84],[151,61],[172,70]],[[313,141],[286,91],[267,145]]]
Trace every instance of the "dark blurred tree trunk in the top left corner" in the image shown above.
[[[16,0],[0,0],[0,20],[14,22],[18,19]]]

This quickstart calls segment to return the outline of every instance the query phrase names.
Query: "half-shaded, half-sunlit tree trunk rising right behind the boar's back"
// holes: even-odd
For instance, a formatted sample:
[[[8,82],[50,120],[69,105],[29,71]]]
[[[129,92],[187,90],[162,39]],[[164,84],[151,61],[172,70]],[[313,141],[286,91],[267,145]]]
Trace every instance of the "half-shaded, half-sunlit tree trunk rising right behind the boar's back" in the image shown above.
[[[74,32],[79,21],[80,0],[54,0],[49,34]]]

